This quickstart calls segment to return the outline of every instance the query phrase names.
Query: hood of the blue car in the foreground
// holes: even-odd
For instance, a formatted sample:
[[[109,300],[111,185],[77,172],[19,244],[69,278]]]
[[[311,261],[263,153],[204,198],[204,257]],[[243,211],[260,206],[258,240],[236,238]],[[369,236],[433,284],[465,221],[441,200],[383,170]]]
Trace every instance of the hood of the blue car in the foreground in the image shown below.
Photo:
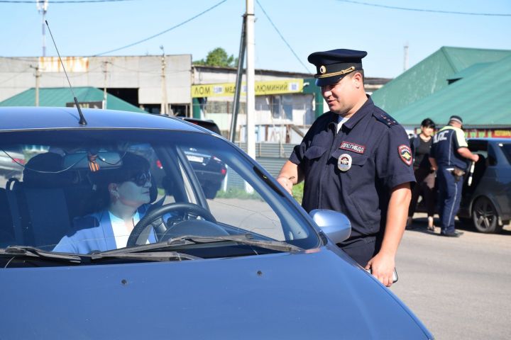
[[[344,256],[6,268],[0,339],[432,338]]]

